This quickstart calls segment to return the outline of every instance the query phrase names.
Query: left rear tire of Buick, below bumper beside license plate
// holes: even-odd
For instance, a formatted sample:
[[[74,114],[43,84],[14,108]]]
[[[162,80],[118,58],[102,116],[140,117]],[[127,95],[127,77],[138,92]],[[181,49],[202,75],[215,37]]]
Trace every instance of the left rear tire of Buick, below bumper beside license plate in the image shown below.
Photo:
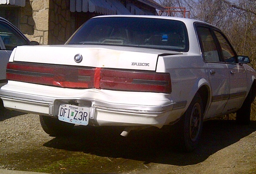
[[[65,136],[70,134],[75,124],[66,123],[53,117],[40,115],[40,123],[46,134],[50,136]]]

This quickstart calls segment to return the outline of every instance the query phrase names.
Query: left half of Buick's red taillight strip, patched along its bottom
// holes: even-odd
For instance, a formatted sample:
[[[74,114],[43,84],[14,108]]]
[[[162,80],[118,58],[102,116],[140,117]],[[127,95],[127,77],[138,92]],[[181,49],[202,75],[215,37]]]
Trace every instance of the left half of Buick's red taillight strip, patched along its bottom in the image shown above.
[[[8,63],[7,80],[29,82],[63,88],[94,88],[94,68]]]

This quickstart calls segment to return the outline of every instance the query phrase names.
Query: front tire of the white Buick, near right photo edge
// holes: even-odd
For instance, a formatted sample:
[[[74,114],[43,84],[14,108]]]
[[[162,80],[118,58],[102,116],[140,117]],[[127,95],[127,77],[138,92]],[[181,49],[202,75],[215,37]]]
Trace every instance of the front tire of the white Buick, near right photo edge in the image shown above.
[[[249,91],[247,97],[242,104],[242,107],[238,109],[236,113],[236,123],[248,125],[251,123],[251,96],[252,92]]]

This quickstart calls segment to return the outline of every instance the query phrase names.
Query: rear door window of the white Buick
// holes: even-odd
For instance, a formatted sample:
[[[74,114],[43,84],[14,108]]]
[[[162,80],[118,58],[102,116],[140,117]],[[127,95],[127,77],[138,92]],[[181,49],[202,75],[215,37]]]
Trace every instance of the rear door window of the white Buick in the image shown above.
[[[196,27],[197,35],[202,45],[202,54],[204,60],[207,62],[220,62],[221,59],[218,54],[218,47],[211,34],[210,28]]]

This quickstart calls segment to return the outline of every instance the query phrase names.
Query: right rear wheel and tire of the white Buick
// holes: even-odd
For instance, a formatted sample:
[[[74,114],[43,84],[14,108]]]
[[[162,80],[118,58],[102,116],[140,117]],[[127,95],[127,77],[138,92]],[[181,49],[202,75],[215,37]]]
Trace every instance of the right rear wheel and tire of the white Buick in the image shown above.
[[[196,93],[180,120],[179,145],[182,151],[191,152],[197,147],[202,133],[203,113],[202,98],[199,93]]]

